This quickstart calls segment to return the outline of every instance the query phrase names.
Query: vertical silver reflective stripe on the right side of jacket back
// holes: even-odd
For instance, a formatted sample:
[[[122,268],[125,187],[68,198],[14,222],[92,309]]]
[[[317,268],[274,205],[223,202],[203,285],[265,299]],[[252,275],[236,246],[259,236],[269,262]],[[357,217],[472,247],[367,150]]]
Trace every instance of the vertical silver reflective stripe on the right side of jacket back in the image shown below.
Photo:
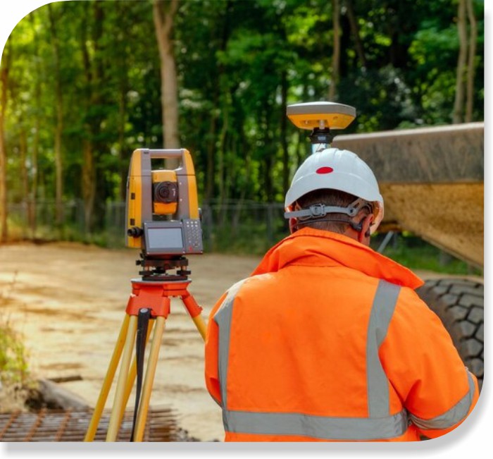
[[[368,416],[385,417],[390,413],[389,381],[384,372],[378,349],[387,336],[390,319],[394,314],[401,288],[383,280],[377,286],[368,321],[366,336],[366,379],[368,390]]]

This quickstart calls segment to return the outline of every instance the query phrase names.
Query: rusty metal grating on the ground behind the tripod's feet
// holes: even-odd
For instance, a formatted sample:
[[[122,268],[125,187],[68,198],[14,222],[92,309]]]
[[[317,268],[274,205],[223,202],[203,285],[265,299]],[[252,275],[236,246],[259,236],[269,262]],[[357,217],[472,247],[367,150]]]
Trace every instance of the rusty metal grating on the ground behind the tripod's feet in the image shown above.
[[[105,441],[111,411],[99,420],[94,441]],[[0,413],[0,441],[83,441],[92,411],[46,410]],[[130,441],[133,411],[125,412],[117,441]],[[143,441],[187,441],[168,409],[149,408]]]

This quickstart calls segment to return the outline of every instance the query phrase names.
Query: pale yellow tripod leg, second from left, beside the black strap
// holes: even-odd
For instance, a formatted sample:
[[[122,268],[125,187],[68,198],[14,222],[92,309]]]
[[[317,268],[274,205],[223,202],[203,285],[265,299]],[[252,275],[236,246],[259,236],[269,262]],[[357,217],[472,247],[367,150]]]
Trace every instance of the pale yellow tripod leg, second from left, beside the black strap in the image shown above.
[[[113,400],[113,410],[111,411],[106,441],[116,441],[118,429],[120,429],[120,419],[123,411],[125,410],[125,406],[123,406],[123,396],[125,395],[125,387],[127,385],[130,360],[132,359],[136,332],[137,316],[130,316],[127,339],[125,340],[125,348],[123,350],[120,374],[118,375],[118,383],[116,386],[115,399]]]

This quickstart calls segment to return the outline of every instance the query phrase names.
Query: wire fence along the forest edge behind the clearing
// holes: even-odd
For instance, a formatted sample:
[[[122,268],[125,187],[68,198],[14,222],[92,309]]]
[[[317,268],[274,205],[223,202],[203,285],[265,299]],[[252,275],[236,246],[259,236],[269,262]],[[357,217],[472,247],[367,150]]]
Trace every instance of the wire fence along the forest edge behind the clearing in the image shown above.
[[[284,209],[280,203],[213,200],[202,202],[200,207],[205,252],[263,255],[289,234]],[[82,200],[63,202],[61,215],[61,223],[56,224],[54,200],[38,201],[36,204],[29,201],[9,204],[9,239],[69,240],[109,248],[125,247],[125,202],[98,204],[94,209],[93,219],[99,225],[92,232],[87,230]],[[457,274],[477,271],[417,236],[404,237],[401,233],[392,231],[377,234],[372,238],[371,246],[409,267],[431,270],[449,267],[451,272]],[[415,259],[417,256],[425,262]]]

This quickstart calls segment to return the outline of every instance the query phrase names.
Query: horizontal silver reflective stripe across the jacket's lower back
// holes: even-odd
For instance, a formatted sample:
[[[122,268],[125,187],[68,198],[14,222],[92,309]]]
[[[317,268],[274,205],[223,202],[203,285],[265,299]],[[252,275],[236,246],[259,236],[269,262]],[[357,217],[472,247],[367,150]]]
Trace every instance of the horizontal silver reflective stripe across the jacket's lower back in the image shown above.
[[[299,435],[323,440],[391,439],[404,434],[408,427],[405,410],[382,419],[246,411],[227,411],[224,419],[228,432]]]

